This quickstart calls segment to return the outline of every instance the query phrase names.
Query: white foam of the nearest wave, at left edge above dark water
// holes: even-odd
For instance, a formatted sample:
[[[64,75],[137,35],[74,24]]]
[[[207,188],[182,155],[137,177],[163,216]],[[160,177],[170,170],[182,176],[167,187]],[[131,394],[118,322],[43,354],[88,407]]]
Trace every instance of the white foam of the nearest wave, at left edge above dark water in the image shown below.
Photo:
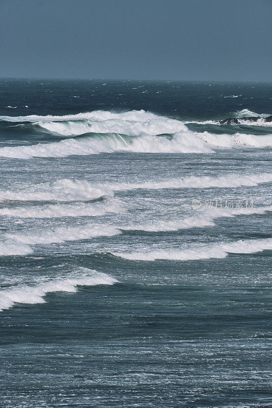
[[[0,311],[11,308],[15,303],[44,303],[43,296],[46,293],[76,292],[77,286],[113,285],[117,282],[116,279],[105,273],[79,268],[77,274],[70,274],[68,277],[48,279],[36,285],[16,286],[1,290]]]

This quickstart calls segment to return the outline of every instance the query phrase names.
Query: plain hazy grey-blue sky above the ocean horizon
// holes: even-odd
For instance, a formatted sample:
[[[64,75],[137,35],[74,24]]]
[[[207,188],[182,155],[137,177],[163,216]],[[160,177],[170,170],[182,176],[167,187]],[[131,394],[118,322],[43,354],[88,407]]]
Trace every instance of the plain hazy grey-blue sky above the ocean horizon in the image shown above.
[[[272,0],[0,0],[0,77],[272,82]]]

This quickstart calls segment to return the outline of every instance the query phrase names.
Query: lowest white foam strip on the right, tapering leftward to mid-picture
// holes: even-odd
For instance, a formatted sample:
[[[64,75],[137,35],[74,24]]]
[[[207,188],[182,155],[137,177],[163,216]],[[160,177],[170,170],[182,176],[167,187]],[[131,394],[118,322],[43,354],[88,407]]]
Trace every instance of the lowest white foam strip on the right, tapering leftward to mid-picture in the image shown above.
[[[134,252],[112,252],[116,257],[137,261],[175,260],[189,261],[226,258],[229,253],[255,253],[272,249],[272,239],[240,240],[229,243],[199,244],[182,249],[158,249]]]

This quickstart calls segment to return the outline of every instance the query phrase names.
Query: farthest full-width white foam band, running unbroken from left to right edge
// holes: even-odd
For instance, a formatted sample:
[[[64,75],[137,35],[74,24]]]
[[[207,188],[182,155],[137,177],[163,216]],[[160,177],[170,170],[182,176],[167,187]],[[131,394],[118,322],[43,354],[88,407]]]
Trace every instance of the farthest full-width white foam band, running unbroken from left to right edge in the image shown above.
[[[102,152],[128,151],[138,153],[212,153],[215,148],[265,148],[272,146],[272,136],[215,135],[209,132],[178,132],[171,138],[141,135],[128,138],[119,134],[94,135],[86,138],[65,139],[60,142],[39,143],[31,146],[0,148],[0,156],[15,159],[34,157],[88,156]]]

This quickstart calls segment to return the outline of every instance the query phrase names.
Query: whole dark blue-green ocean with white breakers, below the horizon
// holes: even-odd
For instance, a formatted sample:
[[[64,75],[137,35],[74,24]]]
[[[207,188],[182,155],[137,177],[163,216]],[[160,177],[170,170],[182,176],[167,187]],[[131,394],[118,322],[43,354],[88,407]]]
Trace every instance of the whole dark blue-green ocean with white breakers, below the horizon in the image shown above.
[[[1,407],[272,405],[271,91],[0,80]]]

